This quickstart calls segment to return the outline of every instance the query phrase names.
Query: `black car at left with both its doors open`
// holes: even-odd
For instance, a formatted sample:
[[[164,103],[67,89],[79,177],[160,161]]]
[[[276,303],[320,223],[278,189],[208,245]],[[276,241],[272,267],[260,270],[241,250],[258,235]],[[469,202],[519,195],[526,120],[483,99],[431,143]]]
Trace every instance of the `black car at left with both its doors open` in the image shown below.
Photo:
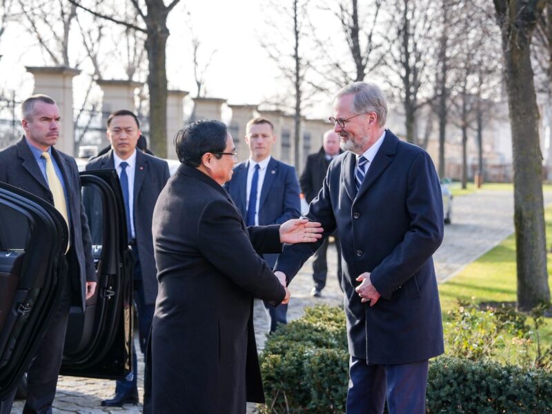
[[[71,308],[61,375],[124,380],[132,367],[132,252],[115,170],[81,172],[98,284]],[[68,230],[46,201],[0,183],[0,399],[28,368],[65,280]]]

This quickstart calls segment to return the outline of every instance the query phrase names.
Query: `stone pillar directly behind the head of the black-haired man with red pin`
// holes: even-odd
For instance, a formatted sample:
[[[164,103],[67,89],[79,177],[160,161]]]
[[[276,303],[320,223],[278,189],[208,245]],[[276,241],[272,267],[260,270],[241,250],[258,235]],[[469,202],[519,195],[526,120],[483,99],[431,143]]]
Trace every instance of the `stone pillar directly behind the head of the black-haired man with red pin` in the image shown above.
[[[134,101],[135,90],[136,88],[141,88],[144,83],[117,79],[98,79],[96,83],[101,88],[101,92],[103,92],[103,98],[101,99],[102,127],[106,127],[111,112],[121,109],[136,112]],[[101,134],[101,144],[98,150],[108,145],[109,141],[106,134]]]

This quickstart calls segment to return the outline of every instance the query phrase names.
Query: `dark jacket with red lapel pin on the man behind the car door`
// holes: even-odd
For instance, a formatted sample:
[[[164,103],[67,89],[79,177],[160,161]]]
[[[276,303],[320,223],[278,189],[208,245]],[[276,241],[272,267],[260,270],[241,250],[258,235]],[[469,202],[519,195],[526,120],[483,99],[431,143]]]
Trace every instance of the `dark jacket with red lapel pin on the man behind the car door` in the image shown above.
[[[114,168],[113,150],[93,159],[86,166],[87,171]],[[157,268],[151,233],[153,208],[169,177],[167,161],[144,154],[141,150],[136,151],[134,225],[146,304],[155,304],[157,297]]]

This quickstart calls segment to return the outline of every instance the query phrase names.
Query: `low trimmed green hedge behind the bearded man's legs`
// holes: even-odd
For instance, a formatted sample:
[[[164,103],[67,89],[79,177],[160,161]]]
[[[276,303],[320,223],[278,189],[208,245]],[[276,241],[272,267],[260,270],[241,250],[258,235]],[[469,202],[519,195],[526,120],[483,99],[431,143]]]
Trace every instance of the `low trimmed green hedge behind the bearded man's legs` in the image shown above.
[[[262,413],[344,413],[349,355],[344,311],[307,308],[266,342]],[[552,373],[439,357],[429,366],[427,413],[552,413]]]

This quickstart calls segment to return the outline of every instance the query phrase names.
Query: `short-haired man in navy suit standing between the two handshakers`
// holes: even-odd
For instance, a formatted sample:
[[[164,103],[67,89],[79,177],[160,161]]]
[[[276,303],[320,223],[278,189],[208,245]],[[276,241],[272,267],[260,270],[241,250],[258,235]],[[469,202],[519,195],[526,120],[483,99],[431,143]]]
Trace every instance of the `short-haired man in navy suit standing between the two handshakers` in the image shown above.
[[[274,126],[266,118],[251,119],[246,126],[249,159],[234,168],[226,190],[242,213],[248,226],[282,224],[301,215],[301,199],[295,168],[270,155],[276,142]],[[263,255],[270,268],[278,255]],[[277,324],[286,324],[288,306],[274,308],[265,303],[270,319],[270,333]]]

